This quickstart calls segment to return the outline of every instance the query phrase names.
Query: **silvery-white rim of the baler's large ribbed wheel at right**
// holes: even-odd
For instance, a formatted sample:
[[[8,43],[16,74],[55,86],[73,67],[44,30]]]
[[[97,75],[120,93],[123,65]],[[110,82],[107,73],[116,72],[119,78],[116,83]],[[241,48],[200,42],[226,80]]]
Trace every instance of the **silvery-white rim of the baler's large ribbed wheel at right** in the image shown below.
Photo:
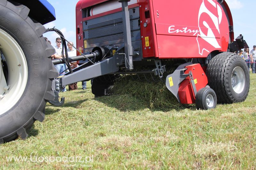
[[[237,94],[240,94],[244,91],[245,74],[244,74],[244,70],[241,67],[236,67],[232,71],[231,84],[232,84],[233,90]]]

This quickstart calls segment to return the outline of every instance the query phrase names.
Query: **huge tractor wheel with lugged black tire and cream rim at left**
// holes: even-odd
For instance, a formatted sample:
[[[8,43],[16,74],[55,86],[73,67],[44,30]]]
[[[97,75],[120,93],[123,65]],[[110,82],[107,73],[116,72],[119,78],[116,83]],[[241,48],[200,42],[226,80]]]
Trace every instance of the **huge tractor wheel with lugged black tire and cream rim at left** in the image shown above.
[[[0,67],[3,143],[26,138],[32,124],[44,120],[45,104],[54,100],[51,86],[58,73],[50,58],[54,48],[42,36],[45,28],[28,17],[29,9],[6,0],[0,1],[0,9],[0,51],[6,60]],[[9,89],[3,91],[6,85]]]

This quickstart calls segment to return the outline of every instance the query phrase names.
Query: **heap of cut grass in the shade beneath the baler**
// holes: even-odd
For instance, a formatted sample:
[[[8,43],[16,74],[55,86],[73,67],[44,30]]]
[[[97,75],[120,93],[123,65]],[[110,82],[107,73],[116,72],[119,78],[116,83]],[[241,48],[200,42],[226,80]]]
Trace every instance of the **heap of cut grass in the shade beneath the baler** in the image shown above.
[[[108,99],[118,103],[115,107],[122,110],[138,110],[143,107],[160,110],[184,108],[166,88],[165,82],[147,82],[135,78],[138,78],[137,75],[126,75],[116,81],[113,95]]]

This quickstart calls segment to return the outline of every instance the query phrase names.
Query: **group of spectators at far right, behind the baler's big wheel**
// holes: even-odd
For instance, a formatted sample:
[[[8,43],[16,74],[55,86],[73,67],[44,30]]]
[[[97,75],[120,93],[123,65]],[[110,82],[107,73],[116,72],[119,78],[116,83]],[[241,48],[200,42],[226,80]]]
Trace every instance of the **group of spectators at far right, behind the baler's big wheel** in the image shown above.
[[[248,70],[256,73],[256,45],[251,51],[249,48],[244,48],[244,51],[240,50],[239,55],[245,60]]]

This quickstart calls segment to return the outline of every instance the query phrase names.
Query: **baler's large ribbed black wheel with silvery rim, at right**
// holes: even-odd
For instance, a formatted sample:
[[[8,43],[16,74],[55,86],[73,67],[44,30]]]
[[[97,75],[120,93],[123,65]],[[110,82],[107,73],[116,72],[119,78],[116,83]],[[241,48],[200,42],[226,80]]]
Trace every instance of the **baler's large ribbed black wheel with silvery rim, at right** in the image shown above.
[[[215,91],[218,103],[242,102],[250,88],[250,75],[244,59],[235,53],[220,53],[207,68],[209,86]]]

